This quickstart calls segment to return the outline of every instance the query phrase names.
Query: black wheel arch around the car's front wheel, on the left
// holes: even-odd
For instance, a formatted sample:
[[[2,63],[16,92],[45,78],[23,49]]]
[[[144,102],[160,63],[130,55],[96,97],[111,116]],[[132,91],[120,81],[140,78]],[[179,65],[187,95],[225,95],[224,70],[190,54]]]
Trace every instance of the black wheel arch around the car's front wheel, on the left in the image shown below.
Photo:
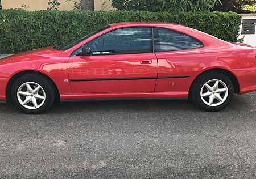
[[[38,74],[38,75],[44,76],[44,78],[47,78],[49,80],[49,82],[52,83],[53,87],[55,88],[55,91],[57,94],[56,99],[55,99],[56,102],[60,101],[60,92],[59,92],[55,82],[53,82],[53,80],[48,75],[46,75],[40,71],[34,71],[34,70],[20,71],[20,72],[16,73],[15,75],[11,76],[11,78],[6,86],[6,100],[7,101],[10,101],[10,99],[11,99],[11,87],[13,86],[13,83],[15,82],[15,80],[20,78],[20,76],[27,75],[27,74]]]

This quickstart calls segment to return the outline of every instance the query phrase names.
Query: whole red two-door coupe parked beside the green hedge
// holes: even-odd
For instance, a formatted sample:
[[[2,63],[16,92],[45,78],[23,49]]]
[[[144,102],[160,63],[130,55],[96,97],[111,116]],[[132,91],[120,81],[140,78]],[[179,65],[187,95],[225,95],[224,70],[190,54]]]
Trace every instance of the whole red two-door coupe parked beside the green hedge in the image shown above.
[[[38,114],[58,101],[189,98],[224,109],[256,90],[256,48],[170,23],[117,23],[0,61],[0,100]]]

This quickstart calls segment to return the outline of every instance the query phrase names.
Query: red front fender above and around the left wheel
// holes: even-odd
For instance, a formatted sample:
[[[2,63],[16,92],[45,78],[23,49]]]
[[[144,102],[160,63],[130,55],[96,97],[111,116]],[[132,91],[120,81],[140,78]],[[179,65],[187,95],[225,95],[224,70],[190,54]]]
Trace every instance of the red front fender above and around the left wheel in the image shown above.
[[[37,71],[47,75],[59,90],[59,93],[72,93],[68,78],[68,58],[52,58],[36,61],[19,61],[15,63],[0,63],[0,99],[5,99],[6,85],[10,79],[19,73]],[[7,81],[7,82],[6,82]]]

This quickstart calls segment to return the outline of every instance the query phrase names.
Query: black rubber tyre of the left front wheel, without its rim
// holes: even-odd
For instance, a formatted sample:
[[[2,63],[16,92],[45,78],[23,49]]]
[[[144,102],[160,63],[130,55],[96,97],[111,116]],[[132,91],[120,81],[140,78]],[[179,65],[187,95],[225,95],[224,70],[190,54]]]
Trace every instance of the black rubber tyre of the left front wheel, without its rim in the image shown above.
[[[20,104],[18,100],[18,97],[17,97],[18,89],[20,86],[22,86],[22,84],[27,82],[34,82],[39,84],[45,92],[45,95],[46,95],[45,101],[43,105],[40,106],[40,108],[38,109],[27,109],[22,104]],[[21,76],[13,83],[13,86],[11,87],[11,101],[19,110],[27,114],[40,114],[40,113],[46,112],[53,105],[55,101],[55,96],[56,96],[55,94],[56,94],[56,90],[53,87],[52,82],[47,78],[45,78],[44,76],[38,75],[38,74],[27,74],[27,75]]]

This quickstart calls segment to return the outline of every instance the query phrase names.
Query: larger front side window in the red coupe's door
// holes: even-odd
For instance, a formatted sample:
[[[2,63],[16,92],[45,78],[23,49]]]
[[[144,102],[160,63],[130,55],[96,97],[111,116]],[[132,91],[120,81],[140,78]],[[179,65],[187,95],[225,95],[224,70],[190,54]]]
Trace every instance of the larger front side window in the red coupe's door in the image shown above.
[[[151,28],[123,28],[106,33],[86,44],[92,54],[152,53]]]

